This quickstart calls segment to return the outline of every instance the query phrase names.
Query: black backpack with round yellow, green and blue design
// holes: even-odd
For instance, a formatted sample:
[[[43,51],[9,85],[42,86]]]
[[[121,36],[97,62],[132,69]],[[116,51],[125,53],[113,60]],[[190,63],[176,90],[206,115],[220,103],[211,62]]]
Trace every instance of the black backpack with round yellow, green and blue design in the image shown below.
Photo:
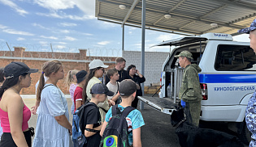
[[[130,132],[128,132],[126,117],[134,109],[129,106],[121,112],[118,105],[112,107],[112,118],[103,132],[100,147],[128,147],[128,133]]]

